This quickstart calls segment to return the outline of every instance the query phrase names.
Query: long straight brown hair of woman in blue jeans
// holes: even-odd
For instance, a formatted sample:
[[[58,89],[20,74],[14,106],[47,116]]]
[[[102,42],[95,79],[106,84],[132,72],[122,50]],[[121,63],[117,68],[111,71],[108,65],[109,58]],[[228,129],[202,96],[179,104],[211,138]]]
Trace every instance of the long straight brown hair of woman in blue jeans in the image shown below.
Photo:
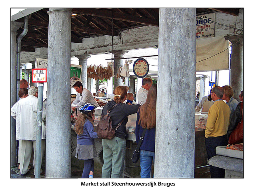
[[[157,84],[154,84],[148,90],[146,102],[139,108],[140,119],[138,124],[142,128],[151,129],[156,127],[156,92]]]

